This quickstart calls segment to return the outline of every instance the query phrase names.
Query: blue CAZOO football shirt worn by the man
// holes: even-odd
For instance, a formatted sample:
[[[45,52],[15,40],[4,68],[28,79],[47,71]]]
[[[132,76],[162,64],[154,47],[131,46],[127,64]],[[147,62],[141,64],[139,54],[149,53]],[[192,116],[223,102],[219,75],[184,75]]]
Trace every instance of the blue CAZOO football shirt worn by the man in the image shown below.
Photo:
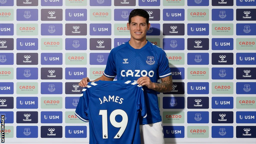
[[[151,82],[171,75],[166,53],[162,48],[147,41],[140,49],[135,49],[126,42],[113,48],[107,59],[104,75],[108,78],[117,76],[117,80],[137,80],[148,76]],[[139,117],[140,124],[156,123],[161,121],[156,91],[144,87],[147,114],[146,119]]]

